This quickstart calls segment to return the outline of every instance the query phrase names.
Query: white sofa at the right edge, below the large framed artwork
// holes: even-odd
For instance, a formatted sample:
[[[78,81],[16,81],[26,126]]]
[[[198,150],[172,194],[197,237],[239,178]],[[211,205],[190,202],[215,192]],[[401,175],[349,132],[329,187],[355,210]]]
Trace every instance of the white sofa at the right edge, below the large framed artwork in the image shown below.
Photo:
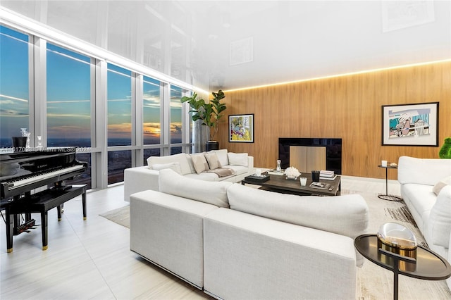
[[[397,180],[429,248],[451,262],[451,159],[401,156]]]

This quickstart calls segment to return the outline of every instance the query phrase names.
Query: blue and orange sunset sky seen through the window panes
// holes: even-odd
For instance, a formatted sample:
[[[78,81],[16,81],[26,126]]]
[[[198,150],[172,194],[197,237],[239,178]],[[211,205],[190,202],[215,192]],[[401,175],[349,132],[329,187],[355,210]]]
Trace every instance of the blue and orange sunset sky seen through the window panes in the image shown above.
[[[1,27],[0,135],[20,135],[28,125],[27,35]],[[89,139],[91,135],[90,58],[47,44],[47,135],[52,138]],[[109,138],[131,138],[131,72],[108,64]],[[180,134],[181,90],[171,89],[171,136]],[[159,81],[144,77],[143,132],[160,135]]]

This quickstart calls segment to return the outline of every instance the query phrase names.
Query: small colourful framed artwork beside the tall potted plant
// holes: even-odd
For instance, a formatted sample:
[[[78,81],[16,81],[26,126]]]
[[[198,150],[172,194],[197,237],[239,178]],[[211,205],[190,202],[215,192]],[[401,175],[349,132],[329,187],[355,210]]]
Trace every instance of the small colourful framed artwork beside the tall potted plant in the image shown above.
[[[228,116],[228,141],[254,142],[254,114]]]

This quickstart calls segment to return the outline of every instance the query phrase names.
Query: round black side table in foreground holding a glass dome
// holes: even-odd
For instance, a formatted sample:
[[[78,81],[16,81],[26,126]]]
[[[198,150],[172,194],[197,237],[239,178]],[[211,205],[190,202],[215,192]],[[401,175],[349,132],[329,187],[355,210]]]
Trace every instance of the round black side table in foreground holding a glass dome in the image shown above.
[[[435,252],[418,246],[416,258],[400,256],[378,247],[376,235],[359,235],[354,246],[369,261],[393,272],[393,299],[397,300],[399,274],[424,280],[445,280],[451,277],[451,265]]]

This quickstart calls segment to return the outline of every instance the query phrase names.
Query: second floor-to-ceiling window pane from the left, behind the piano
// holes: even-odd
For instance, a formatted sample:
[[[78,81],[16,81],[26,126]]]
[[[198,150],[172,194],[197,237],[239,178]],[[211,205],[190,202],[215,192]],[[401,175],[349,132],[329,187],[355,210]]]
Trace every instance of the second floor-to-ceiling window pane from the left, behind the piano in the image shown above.
[[[91,58],[47,43],[47,146],[88,149],[91,142]],[[91,187],[91,154],[77,154],[88,170],[73,183]]]

